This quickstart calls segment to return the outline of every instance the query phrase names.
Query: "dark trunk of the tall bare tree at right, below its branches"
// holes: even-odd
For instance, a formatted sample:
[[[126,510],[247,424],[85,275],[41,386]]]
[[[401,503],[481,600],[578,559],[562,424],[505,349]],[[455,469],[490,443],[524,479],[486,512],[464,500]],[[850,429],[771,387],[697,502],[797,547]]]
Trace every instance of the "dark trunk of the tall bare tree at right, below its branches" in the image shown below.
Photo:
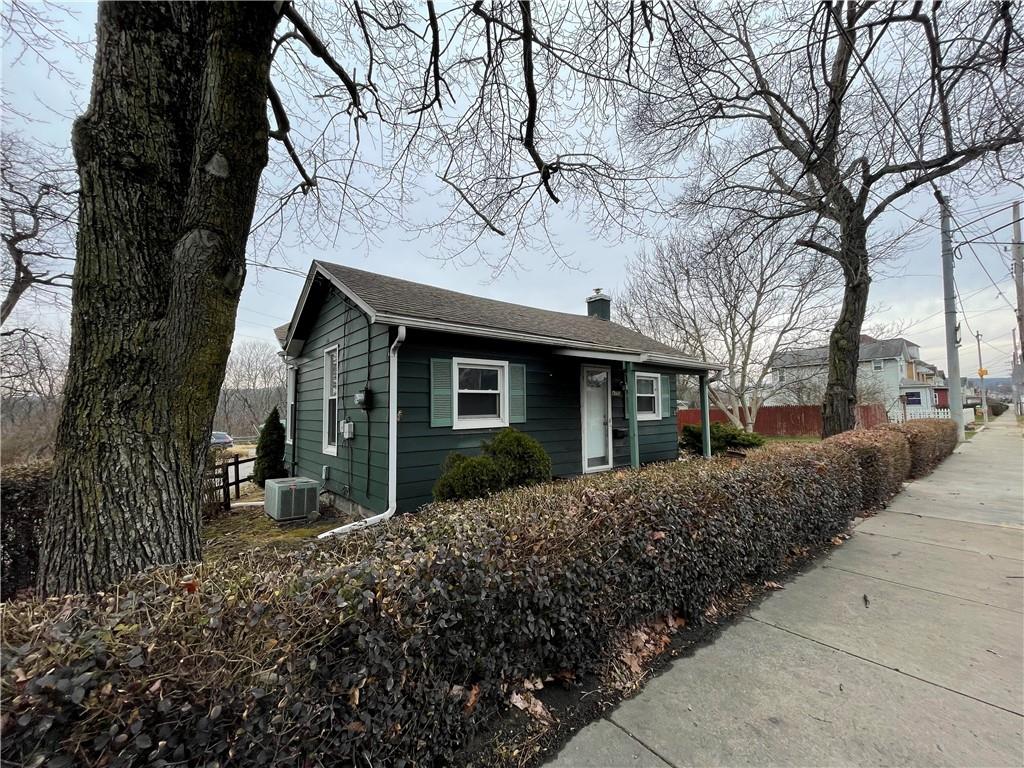
[[[867,311],[871,278],[867,269],[867,225],[862,217],[845,227],[839,262],[845,288],[843,308],[828,339],[828,382],[821,404],[821,436],[829,437],[856,426],[857,367],[860,329]]]

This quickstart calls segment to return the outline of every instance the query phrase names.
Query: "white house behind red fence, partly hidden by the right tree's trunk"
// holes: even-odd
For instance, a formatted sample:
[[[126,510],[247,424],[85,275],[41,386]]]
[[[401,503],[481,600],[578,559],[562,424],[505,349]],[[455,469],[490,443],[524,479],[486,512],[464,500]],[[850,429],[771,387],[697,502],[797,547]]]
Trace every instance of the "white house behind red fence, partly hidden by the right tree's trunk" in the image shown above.
[[[777,391],[766,404],[820,402],[827,380],[827,346],[783,352],[772,364]],[[921,347],[906,339],[861,336],[857,388],[861,402],[881,402],[894,421],[949,408],[945,373],[921,359]]]

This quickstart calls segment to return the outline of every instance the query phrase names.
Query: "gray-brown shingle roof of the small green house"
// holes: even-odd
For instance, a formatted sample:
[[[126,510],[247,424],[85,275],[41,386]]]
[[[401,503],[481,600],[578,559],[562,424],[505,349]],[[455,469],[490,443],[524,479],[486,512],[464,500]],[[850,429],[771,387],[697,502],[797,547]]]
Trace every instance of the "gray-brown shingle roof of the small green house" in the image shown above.
[[[577,342],[609,350],[671,355],[678,361],[692,361],[694,368],[709,367],[709,364],[686,355],[675,347],[654,341],[617,323],[586,314],[555,312],[485,299],[327,261],[314,263],[369,305],[379,322],[397,324],[398,321],[408,319],[414,323],[407,325],[416,325],[415,321],[426,321],[463,328],[493,329],[547,337],[553,344],[559,341]],[[714,364],[711,367],[718,368]]]

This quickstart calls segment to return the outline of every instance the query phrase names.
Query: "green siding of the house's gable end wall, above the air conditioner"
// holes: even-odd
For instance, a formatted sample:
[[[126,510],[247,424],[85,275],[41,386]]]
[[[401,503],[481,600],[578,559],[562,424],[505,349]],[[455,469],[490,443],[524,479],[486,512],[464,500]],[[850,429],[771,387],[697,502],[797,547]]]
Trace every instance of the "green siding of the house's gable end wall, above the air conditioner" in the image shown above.
[[[321,305],[300,357],[306,362],[296,377],[296,445],[298,474],[319,478],[329,467],[326,490],[375,512],[387,508],[388,474],[388,327],[367,327],[367,315],[336,291]],[[369,336],[369,343],[368,343]],[[351,419],[355,438],[338,440],[338,455],[325,454],[324,350],[338,344],[342,384],[339,421]],[[369,378],[369,381],[368,381]],[[355,393],[369,386],[373,409],[353,404]],[[292,460],[291,446],[286,450]],[[348,486],[346,492],[345,487]]]

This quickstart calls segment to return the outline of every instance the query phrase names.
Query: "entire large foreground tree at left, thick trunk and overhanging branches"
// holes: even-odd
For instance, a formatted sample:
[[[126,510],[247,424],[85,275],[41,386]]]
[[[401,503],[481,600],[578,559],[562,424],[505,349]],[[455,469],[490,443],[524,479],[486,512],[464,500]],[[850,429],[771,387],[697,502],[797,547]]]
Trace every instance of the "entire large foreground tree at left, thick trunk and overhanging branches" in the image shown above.
[[[609,139],[646,39],[632,6],[101,3],[96,30],[43,592],[200,556],[271,140],[292,181],[263,180],[258,225],[297,204],[357,227],[436,178],[441,223],[471,227],[467,249],[505,238],[509,258],[567,196],[609,221],[649,186]]]

